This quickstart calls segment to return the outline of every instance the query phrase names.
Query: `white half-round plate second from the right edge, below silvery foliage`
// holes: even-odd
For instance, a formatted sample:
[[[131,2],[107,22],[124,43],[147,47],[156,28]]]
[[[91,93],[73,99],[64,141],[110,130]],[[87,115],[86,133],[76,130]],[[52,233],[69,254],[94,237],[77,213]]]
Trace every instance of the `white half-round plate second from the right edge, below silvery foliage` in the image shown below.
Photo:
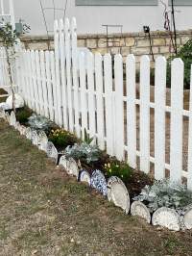
[[[174,209],[167,207],[158,208],[152,217],[152,223],[154,226],[180,231],[180,215]]]

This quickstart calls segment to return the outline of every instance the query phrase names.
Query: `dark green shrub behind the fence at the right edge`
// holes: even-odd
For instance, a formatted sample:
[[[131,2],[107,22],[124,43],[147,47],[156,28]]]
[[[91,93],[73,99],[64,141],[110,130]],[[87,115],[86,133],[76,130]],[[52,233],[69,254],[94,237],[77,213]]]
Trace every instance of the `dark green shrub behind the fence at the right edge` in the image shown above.
[[[180,58],[184,63],[184,89],[190,89],[190,73],[192,64],[192,39],[189,39],[176,56],[168,59],[167,65],[167,87],[171,87],[171,62],[175,58]]]

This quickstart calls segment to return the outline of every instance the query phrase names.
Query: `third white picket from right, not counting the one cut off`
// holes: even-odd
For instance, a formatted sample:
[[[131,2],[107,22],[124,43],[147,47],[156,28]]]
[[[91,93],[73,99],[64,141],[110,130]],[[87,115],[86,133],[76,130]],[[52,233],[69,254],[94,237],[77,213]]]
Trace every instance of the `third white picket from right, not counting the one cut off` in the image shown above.
[[[140,169],[150,171],[150,59],[140,63]]]

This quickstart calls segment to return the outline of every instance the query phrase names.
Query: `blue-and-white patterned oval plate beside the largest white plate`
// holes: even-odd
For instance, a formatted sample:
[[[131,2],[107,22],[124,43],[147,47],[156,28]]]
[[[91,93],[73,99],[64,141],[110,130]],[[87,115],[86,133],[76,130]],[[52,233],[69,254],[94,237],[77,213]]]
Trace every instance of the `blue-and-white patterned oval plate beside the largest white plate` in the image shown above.
[[[90,186],[105,196],[108,194],[106,178],[99,169],[93,171],[90,178]]]

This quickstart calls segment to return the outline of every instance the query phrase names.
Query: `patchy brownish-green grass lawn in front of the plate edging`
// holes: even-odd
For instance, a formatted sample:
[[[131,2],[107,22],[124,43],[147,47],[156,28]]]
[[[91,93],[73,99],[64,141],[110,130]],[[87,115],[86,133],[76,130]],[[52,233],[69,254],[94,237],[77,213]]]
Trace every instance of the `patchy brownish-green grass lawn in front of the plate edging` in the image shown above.
[[[192,255],[192,233],[125,216],[0,121],[0,255]]]

